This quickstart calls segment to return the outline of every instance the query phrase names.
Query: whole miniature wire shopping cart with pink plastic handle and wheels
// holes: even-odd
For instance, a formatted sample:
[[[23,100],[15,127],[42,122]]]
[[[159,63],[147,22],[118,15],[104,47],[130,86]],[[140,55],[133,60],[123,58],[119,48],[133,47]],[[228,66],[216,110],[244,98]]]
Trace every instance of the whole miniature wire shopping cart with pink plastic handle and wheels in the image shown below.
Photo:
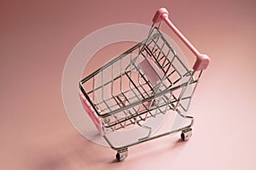
[[[195,54],[192,69],[160,32],[162,21]],[[206,54],[200,54],[183,37],[168,19],[166,8],[156,12],[153,22],[143,42],[137,43],[79,82],[84,110],[110,147],[117,150],[118,161],[125,159],[130,146],[171,133],[181,132],[183,140],[192,135],[193,117],[187,116],[187,113],[197,82],[210,59]],[[164,122],[158,117],[168,114],[177,114],[183,120],[188,120],[189,125],[155,134],[154,120]],[[115,137],[114,133],[117,133]],[[126,142],[113,141],[126,140],[125,135],[131,138]]]

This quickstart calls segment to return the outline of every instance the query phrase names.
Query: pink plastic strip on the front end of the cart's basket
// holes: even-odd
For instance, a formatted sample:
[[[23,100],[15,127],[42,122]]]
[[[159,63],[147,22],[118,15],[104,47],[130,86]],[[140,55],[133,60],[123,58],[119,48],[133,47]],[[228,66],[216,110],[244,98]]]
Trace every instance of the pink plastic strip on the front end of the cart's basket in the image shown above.
[[[96,112],[93,110],[93,108],[90,106],[90,103],[85,99],[84,94],[79,94],[81,102],[84,106],[84,110],[87,112],[87,114],[90,116],[90,119],[94,122],[95,126],[97,127],[99,133],[101,135],[104,134],[103,128],[102,128],[102,122],[99,116],[96,115]]]

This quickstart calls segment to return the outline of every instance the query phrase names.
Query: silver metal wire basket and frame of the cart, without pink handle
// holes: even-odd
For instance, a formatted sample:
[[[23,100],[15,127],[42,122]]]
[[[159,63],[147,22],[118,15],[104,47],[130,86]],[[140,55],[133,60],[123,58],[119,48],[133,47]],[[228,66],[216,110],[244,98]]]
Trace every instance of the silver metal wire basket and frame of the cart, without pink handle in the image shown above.
[[[143,59],[148,61],[148,57],[154,59],[156,65],[165,73],[164,77],[160,77],[155,72],[160,79],[160,83],[156,86],[148,81],[147,75],[138,66]],[[114,75],[116,73],[114,69],[119,71],[117,76]],[[106,71],[110,77],[108,80],[104,76]],[[135,78],[132,75],[134,72],[137,72]],[[101,118],[105,134],[131,125],[148,129],[146,137],[121,147],[114,146],[104,134],[103,138],[113,150],[119,151],[120,157],[120,153],[126,153],[128,147],[159,139],[171,133],[184,132],[192,127],[194,118],[187,116],[187,113],[197,82],[201,77],[202,71],[198,72],[195,74],[195,71],[189,70],[160,32],[160,26],[153,25],[143,42],[137,43],[124,54],[120,54],[85,77],[79,82],[79,88],[96,115]],[[96,80],[100,80],[101,83],[97,84]],[[123,88],[124,80],[129,82],[129,89]],[[115,84],[118,90],[114,87]],[[104,95],[106,88],[110,88],[111,94],[107,97]],[[188,91],[191,93],[186,94]],[[96,94],[101,94],[102,99],[96,98]],[[144,126],[143,122],[160,114],[166,114],[168,111],[174,111],[184,120],[189,120],[189,125],[152,136],[151,127]]]

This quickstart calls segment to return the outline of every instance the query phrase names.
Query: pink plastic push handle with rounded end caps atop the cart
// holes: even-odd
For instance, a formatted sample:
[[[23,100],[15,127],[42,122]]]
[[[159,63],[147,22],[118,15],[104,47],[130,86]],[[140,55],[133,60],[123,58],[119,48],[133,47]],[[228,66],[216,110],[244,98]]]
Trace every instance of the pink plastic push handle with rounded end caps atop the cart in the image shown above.
[[[207,69],[207,66],[210,64],[210,58],[207,56],[207,54],[199,53],[197,49],[191,44],[191,42],[189,42],[189,40],[186,37],[184,37],[180,31],[177,30],[177,27],[172,24],[171,20],[169,20],[168,17],[169,13],[166,10],[166,8],[160,8],[154,14],[153,22],[157,23],[163,20],[166,21],[167,26],[169,26],[172,29],[172,31],[174,31],[174,33],[177,35],[177,37],[179,37],[185,43],[185,45],[192,51],[192,53],[195,54],[196,61],[193,66],[194,71],[201,71]]]

